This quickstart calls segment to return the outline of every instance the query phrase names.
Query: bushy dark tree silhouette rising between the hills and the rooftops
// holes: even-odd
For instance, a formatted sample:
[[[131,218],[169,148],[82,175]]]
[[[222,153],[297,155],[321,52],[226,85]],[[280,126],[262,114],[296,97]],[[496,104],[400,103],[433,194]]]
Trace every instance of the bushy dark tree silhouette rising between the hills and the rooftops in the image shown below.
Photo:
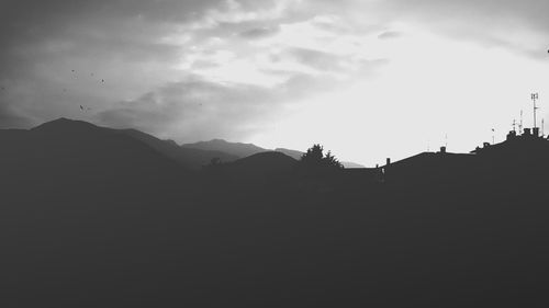
[[[324,155],[324,148],[321,145],[313,145],[309,148],[301,157],[298,167],[300,171],[313,175],[337,172],[344,168],[330,151]]]

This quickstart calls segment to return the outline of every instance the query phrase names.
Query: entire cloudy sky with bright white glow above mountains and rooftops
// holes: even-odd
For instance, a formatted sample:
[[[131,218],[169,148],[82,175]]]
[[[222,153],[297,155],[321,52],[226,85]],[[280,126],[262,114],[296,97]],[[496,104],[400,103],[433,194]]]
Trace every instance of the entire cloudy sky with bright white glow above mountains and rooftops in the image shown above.
[[[2,0],[0,128],[313,144],[366,166],[549,119],[547,0]],[[549,122],[548,122],[549,124]],[[493,129],[493,130],[492,130]],[[546,129],[549,133],[548,129]]]

